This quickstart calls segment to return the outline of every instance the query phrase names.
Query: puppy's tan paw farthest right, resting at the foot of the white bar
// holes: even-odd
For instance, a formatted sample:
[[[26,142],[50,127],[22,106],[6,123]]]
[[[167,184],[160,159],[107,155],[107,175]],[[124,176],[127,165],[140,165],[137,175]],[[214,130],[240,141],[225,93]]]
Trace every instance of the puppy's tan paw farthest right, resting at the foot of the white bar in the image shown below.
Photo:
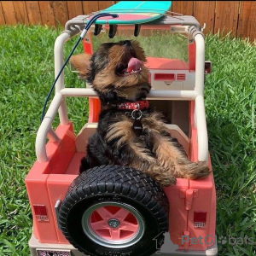
[[[183,172],[184,177],[189,179],[201,179],[207,177],[211,174],[209,166],[207,166],[206,161],[191,162],[186,166]]]

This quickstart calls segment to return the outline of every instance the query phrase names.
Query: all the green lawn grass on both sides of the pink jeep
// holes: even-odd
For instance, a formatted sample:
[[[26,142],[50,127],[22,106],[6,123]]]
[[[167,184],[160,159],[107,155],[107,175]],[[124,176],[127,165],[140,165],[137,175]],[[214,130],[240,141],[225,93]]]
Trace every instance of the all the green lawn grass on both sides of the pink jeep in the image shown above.
[[[0,255],[30,254],[32,214],[24,178],[36,159],[35,137],[54,79],[53,46],[60,31],[46,26],[0,27]],[[67,43],[66,55],[73,43]],[[206,60],[212,61],[205,98],[218,196],[217,235],[247,235],[254,241],[218,243],[218,255],[254,255],[256,48],[245,40],[210,35],[206,49]],[[81,51],[79,46],[77,52]],[[67,67],[65,72],[68,86],[84,86]],[[77,132],[87,119],[87,100],[68,98],[67,106],[73,107],[68,112]]]

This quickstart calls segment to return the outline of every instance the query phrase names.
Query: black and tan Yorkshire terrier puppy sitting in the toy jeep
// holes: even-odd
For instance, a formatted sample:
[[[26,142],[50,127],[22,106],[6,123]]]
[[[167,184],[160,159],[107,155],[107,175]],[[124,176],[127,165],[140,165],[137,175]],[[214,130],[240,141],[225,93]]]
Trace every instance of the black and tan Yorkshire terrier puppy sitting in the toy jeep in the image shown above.
[[[145,99],[151,85],[143,64],[146,57],[137,41],[102,44],[93,55],[74,55],[70,61],[102,103],[80,172],[102,165],[131,166],[162,186],[176,183],[177,177],[209,175],[207,162],[191,162],[170,136],[162,115],[148,108]]]

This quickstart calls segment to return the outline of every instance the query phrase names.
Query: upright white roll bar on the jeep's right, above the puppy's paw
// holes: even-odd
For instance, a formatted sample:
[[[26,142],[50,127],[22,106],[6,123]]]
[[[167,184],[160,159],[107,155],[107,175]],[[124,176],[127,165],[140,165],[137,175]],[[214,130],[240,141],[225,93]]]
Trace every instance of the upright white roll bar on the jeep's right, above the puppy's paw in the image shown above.
[[[195,35],[195,126],[197,128],[198,160],[208,160],[207,120],[204,104],[205,82],[205,39],[201,34]]]

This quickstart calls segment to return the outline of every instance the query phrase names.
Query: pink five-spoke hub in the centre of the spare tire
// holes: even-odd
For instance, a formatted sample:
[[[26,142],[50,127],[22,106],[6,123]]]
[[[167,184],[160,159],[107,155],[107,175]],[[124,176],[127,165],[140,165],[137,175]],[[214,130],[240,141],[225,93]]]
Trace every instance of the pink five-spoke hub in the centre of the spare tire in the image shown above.
[[[137,218],[123,207],[98,207],[90,214],[90,229],[107,241],[126,241],[137,235]]]

